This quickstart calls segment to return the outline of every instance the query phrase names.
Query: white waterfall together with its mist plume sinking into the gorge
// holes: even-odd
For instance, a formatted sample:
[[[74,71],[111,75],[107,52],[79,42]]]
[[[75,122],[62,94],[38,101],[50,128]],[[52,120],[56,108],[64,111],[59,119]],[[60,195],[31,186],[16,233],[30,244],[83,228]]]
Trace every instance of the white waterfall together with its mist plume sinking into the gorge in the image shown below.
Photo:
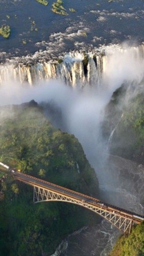
[[[67,131],[78,137],[90,160],[96,154],[93,148],[97,148],[97,155],[104,148],[100,122],[112,93],[124,82],[135,83],[139,88],[143,80],[144,46],[115,45],[88,54],[70,52],[61,63],[40,60],[33,65],[22,65],[19,60],[20,64],[16,65],[16,61],[0,65],[1,90],[9,96],[8,103],[13,103],[9,88],[13,88],[14,103],[21,103],[21,99],[22,102],[31,99],[55,101],[63,111]],[[69,85],[67,89],[62,82]],[[31,92],[28,84],[31,85]],[[70,91],[70,88],[74,90]],[[81,93],[79,88],[83,88]],[[1,104],[6,104],[5,97],[1,99]]]

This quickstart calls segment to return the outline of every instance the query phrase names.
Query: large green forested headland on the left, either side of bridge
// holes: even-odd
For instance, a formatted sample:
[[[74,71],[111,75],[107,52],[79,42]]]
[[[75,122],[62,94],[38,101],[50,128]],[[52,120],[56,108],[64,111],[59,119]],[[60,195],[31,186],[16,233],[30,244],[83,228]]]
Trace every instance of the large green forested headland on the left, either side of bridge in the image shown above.
[[[35,101],[5,107],[5,111],[14,115],[1,121],[0,161],[27,174],[97,196],[96,175],[74,135],[52,127]],[[51,255],[66,235],[97,221],[96,214],[79,206],[62,202],[33,205],[32,198],[32,187],[13,176],[0,183],[3,256]]]

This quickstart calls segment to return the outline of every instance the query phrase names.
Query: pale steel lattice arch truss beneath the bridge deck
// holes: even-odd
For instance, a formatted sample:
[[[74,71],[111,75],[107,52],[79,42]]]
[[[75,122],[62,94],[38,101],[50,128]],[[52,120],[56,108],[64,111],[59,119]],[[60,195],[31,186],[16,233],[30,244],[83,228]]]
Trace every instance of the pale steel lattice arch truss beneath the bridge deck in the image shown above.
[[[120,214],[115,213],[114,211],[109,212],[109,210],[107,208],[104,209],[103,206],[95,206],[85,200],[71,198],[62,193],[51,191],[49,189],[43,189],[39,186],[34,186],[33,202],[38,203],[44,201],[62,201],[83,206],[84,208],[92,210],[93,212],[102,216],[104,219],[108,220],[112,225],[115,225],[116,228],[126,235],[130,234],[131,226],[134,224],[131,217],[128,218],[120,216]]]

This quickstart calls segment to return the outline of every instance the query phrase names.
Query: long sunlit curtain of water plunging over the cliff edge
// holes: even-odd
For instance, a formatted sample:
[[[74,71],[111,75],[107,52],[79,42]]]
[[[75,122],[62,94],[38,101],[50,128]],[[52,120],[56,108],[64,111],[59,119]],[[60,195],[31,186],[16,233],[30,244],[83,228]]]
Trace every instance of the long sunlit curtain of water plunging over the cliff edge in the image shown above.
[[[126,78],[131,80],[129,70],[135,69],[140,66],[139,63],[143,62],[144,45],[137,47],[113,45],[88,53],[70,52],[60,59],[48,62],[46,59],[47,51],[7,60],[5,64],[0,65],[0,82],[11,80],[33,85],[41,81],[59,79],[73,87],[84,87],[87,84],[98,87],[101,86],[101,82],[107,83],[111,75],[111,79],[115,79],[115,76],[124,69]],[[141,75],[141,69],[139,75]]]

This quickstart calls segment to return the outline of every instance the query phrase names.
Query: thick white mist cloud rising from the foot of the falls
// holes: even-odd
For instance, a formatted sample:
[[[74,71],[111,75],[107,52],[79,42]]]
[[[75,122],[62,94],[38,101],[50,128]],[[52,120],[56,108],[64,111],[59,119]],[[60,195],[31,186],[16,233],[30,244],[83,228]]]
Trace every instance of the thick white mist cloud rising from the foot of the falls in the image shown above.
[[[112,93],[124,82],[142,84],[144,62],[138,47],[106,47],[103,76],[99,87],[71,88],[60,80],[41,82],[29,87],[16,81],[5,81],[0,88],[1,105],[20,104],[34,99],[54,102],[62,111],[66,131],[74,134],[84,147],[88,159],[97,159],[105,151],[101,134],[103,111]],[[93,161],[91,161],[92,164]]]

